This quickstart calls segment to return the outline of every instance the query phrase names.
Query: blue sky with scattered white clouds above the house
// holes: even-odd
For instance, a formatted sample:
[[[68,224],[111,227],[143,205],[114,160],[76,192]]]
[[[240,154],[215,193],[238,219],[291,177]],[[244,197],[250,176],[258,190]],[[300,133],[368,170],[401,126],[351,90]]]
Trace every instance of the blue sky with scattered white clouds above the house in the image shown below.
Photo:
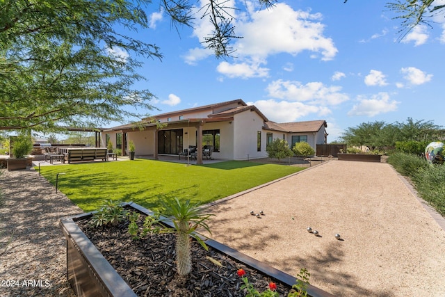
[[[243,99],[275,122],[326,120],[328,142],[376,120],[445,126],[444,14],[399,41],[401,21],[386,0],[288,0],[261,11],[257,2],[228,1],[243,38],[234,40],[236,57],[220,60],[200,44],[207,18],[198,13],[178,34],[156,1],[147,8],[150,28],[138,38],[164,56],[138,70],[147,81],[136,87],[157,97],[160,111],[149,113]]]

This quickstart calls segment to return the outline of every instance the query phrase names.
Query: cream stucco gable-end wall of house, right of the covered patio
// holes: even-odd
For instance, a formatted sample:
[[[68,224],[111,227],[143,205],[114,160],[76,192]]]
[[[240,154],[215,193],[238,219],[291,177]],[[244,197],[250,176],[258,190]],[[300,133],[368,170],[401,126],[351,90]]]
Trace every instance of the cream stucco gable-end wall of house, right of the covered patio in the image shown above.
[[[245,111],[234,115],[234,160],[258,159],[267,156],[264,120],[258,113]],[[261,132],[261,151],[257,151],[257,133]]]

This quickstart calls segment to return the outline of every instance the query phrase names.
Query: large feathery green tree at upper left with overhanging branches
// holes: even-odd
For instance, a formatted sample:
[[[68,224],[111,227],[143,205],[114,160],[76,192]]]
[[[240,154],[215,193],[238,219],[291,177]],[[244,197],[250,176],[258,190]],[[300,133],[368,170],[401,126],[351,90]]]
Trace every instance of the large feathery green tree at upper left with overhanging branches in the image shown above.
[[[275,0],[258,0],[270,7]],[[133,84],[142,64],[132,55],[162,58],[159,48],[131,38],[148,27],[150,0],[3,0],[0,2],[0,130],[57,131],[60,125],[97,127],[147,116],[149,90]],[[160,0],[175,26],[193,26],[189,0]],[[197,1],[199,3],[199,1]],[[204,40],[217,57],[229,56],[234,33],[227,1],[200,10],[213,33]],[[115,28],[119,27],[120,31]],[[124,54],[118,54],[123,52]]]

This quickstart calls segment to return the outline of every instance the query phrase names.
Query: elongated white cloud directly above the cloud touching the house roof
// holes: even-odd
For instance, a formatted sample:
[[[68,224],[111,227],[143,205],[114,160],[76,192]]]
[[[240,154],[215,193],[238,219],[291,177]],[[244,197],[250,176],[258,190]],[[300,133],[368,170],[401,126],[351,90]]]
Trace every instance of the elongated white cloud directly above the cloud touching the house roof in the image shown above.
[[[310,82],[303,85],[300,81],[283,81],[269,83],[268,95],[276,99],[311,102],[312,104],[337,105],[349,99],[341,93],[340,86],[325,86],[321,82]]]

